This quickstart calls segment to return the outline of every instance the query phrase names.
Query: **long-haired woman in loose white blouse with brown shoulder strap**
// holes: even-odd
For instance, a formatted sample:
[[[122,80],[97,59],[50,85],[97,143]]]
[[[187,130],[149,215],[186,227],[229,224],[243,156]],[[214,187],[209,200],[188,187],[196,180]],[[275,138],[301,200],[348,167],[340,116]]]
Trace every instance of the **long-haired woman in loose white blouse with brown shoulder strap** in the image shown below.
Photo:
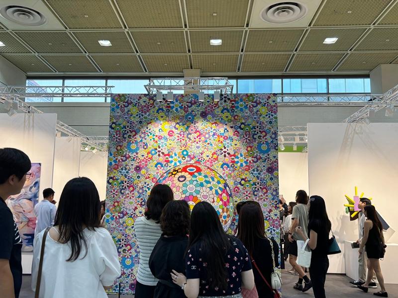
[[[106,298],[120,276],[116,247],[100,227],[100,197],[89,178],[74,178],[62,191],[54,226],[45,240],[40,298]],[[45,231],[34,240],[32,290]]]

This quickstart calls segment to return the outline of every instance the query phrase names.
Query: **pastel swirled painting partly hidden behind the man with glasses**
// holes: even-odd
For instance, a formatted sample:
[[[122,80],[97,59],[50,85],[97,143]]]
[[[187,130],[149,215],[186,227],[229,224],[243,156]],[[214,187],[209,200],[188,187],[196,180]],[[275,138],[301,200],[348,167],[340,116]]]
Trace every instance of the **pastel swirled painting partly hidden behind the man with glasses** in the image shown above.
[[[29,172],[31,176],[26,179],[21,192],[7,200],[22,238],[22,251],[33,251],[34,229],[36,228],[34,206],[39,200],[41,164],[32,163]]]

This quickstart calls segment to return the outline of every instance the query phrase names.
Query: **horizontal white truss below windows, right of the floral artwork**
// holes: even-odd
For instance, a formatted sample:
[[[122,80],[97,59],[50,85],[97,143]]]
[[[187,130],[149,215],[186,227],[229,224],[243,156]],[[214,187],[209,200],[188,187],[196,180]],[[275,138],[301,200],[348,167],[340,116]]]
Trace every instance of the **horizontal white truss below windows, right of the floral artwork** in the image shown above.
[[[358,106],[376,105],[382,100],[375,94],[288,94],[277,95],[278,106]]]

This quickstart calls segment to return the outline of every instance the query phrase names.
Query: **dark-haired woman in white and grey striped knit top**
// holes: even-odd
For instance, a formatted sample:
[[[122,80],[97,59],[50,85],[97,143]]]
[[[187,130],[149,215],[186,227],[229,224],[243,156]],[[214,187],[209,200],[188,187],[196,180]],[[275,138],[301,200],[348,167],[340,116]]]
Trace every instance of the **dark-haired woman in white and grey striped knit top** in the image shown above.
[[[148,261],[162,230],[160,216],[163,208],[173,201],[173,191],[165,184],[155,185],[146,201],[147,210],[134,223],[135,237],[140,248],[140,257],[135,284],[135,298],[152,298],[158,280],[152,275]]]

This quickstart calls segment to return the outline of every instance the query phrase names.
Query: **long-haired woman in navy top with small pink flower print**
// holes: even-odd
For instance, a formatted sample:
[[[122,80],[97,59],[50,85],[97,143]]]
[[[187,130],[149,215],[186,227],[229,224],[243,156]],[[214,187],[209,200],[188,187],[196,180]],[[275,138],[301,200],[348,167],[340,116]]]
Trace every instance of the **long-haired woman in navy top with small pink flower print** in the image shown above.
[[[188,298],[241,298],[241,288],[254,288],[250,257],[242,242],[229,236],[213,206],[195,205],[191,214],[186,273],[171,273]]]

